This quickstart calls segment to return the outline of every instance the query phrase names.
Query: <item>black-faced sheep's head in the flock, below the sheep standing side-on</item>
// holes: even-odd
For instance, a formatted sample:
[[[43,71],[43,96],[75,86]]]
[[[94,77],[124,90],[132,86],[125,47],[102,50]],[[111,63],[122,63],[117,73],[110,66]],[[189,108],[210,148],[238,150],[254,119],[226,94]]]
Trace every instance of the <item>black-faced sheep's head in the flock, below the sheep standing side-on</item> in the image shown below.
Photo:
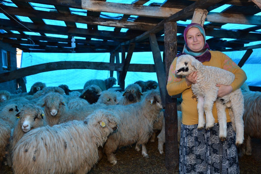
[[[84,88],[80,98],[87,100],[90,104],[96,103],[99,99],[102,90],[97,85],[90,85]]]

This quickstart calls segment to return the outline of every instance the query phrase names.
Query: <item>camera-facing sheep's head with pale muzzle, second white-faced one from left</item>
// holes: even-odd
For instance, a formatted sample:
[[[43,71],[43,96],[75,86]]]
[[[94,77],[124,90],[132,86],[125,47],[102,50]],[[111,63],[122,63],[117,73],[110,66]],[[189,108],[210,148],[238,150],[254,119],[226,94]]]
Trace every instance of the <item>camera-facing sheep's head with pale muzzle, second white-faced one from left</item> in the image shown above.
[[[49,126],[57,124],[60,117],[67,112],[68,107],[64,100],[64,96],[57,92],[49,92],[44,96],[42,107],[45,106],[44,113],[46,117],[44,118]]]

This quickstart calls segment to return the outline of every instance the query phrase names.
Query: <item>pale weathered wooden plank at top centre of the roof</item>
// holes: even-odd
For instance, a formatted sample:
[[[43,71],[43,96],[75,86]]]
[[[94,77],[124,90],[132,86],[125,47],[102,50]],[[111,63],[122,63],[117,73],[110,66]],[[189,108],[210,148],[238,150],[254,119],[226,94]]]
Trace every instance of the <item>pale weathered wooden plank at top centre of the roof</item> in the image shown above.
[[[114,2],[100,2],[94,0],[82,0],[82,9],[91,11],[103,11],[108,13],[147,16],[153,18],[168,18],[170,15],[181,10],[176,8],[123,4]]]

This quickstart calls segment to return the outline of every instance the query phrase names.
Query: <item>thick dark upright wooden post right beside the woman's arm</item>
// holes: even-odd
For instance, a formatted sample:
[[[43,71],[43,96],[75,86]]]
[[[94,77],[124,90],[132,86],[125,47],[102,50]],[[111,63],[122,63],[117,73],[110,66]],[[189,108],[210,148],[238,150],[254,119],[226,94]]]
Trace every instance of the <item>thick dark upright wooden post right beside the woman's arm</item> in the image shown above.
[[[177,54],[177,23],[166,22],[164,24],[164,48],[165,48],[165,83],[168,82],[169,67]],[[166,168],[175,171],[179,166],[179,151],[177,144],[177,99],[166,95],[165,106],[165,161]]]

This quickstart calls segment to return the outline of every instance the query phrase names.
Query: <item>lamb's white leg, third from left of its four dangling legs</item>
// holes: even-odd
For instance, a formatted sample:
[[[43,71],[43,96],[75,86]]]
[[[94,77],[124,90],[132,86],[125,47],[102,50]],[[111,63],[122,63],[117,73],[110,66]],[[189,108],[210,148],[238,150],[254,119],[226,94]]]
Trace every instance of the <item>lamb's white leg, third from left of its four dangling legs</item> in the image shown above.
[[[226,116],[226,105],[216,101],[217,108],[217,120],[219,124],[219,138],[221,141],[225,141],[227,137],[227,116]]]

